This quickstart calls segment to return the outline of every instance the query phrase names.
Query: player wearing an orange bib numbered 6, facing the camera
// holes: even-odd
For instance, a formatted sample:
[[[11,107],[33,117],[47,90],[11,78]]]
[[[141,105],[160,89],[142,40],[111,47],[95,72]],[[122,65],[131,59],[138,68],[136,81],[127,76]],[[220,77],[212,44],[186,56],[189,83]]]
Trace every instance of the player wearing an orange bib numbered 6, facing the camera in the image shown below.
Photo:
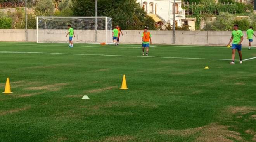
[[[146,56],[149,56],[149,43],[152,44],[151,34],[147,31],[148,28],[144,28],[144,32],[141,34],[142,36],[142,55],[144,56],[144,50],[146,48]]]

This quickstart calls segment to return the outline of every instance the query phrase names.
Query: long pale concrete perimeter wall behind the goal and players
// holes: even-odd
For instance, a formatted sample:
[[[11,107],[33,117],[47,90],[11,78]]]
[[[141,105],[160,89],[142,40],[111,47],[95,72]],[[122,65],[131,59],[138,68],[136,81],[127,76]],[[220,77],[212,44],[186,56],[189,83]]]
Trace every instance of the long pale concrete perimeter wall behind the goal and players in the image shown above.
[[[63,34],[51,34],[51,39],[59,39],[67,41],[65,37],[66,30],[61,30]],[[153,44],[172,44],[173,43],[173,32],[172,31],[150,31],[152,34]],[[0,29],[1,35],[0,41],[25,41],[25,30],[24,29]],[[86,32],[79,35],[78,38],[86,35]],[[109,36],[111,33],[108,33]],[[123,30],[123,36],[120,38],[120,43],[131,43],[140,44],[142,31],[139,30]],[[92,35],[92,34],[90,34]],[[188,45],[227,45],[231,37],[231,31],[176,31],[175,32],[175,44],[188,44]],[[89,37],[88,37],[89,38]],[[86,41],[87,38],[85,38]],[[101,39],[101,38],[99,38]],[[111,39],[109,37],[108,39]],[[88,39],[87,39],[88,40]],[[256,46],[256,39],[252,46]],[[36,42],[36,30],[28,30],[28,41]],[[76,39],[74,39],[76,41]],[[243,46],[248,46],[249,41],[246,39],[246,32],[244,31]]]

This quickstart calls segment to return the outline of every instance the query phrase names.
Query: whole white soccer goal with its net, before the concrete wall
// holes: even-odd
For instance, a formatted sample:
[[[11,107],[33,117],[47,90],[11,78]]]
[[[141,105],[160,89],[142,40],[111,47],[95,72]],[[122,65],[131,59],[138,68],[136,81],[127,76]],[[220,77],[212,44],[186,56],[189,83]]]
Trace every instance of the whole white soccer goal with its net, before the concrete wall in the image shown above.
[[[112,43],[112,19],[108,17],[37,17],[37,43],[67,43],[67,25],[74,29],[74,43]]]

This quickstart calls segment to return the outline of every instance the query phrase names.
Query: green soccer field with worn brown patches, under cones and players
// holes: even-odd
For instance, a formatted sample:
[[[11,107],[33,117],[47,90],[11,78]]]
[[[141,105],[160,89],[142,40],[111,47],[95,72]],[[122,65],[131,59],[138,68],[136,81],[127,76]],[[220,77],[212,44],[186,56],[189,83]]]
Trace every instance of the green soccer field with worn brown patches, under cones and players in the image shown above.
[[[256,48],[242,52],[0,42],[0,142],[254,142]]]

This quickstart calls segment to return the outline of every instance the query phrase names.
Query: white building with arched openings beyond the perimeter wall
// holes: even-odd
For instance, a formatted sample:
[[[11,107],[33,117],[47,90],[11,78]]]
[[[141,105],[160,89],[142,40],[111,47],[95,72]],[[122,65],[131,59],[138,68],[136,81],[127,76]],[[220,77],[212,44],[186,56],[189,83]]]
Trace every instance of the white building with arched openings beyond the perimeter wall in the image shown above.
[[[145,12],[153,19],[158,17],[163,19],[163,23],[173,23],[173,5],[175,5],[175,23],[176,26],[182,26],[182,19],[185,19],[185,10],[181,7],[181,0],[137,0]],[[154,16],[154,15],[155,16]],[[156,21],[156,20],[155,20]],[[159,22],[159,21],[156,21]]]

